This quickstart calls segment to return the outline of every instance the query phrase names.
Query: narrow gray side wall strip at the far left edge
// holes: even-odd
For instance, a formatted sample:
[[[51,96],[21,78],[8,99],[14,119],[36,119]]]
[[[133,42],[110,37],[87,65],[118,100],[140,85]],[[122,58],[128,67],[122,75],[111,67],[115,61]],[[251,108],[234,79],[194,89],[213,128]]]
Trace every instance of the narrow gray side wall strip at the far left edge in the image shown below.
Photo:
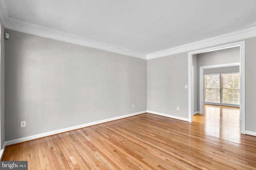
[[[0,119],[1,119],[1,148],[4,145],[5,142],[5,39],[4,39],[4,26],[2,24],[2,21],[0,19],[0,24],[1,24],[1,54],[0,54]]]

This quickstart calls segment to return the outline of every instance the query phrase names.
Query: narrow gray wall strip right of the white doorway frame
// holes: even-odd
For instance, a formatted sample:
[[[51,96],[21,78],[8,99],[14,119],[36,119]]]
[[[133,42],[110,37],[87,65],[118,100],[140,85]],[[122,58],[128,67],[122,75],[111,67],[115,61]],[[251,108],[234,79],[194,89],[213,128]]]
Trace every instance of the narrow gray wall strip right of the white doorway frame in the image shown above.
[[[256,133],[256,37],[245,40],[245,122],[246,131]]]

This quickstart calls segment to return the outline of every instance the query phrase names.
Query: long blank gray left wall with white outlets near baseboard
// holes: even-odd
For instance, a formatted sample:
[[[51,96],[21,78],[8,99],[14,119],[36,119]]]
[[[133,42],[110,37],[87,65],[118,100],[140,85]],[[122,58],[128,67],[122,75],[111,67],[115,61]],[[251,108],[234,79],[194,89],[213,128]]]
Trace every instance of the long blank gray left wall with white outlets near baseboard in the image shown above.
[[[6,141],[147,110],[146,60],[6,31]]]

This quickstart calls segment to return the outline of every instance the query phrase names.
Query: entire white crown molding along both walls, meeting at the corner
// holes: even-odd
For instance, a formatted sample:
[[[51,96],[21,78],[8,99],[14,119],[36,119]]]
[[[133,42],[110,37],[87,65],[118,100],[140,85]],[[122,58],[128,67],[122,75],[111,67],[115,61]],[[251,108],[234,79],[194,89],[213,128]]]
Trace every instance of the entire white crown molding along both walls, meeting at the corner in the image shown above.
[[[29,33],[32,35],[38,35],[38,36],[46,37],[50,39],[56,39],[59,41],[64,41],[64,42],[82,45],[86,47],[92,47],[95,49],[100,49],[100,50],[118,53],[122,55],[128,55],[128,56],[132,56],[140,59],[154,59],[154,58],[164,57],[168,55],[174,55],[178,53],[189,52],[189,51],[204,49],[208,47],[214,47],[217,45],[223,45],[225,43],[241,41],[251,37],[256,37],[256,26],[254,26],[254,27],[242,29],[239,31],[234,31],[231,33],[219,35],[216,37],[196,41],[193,43],[180,45],[170,49],[165,49],[162,51],[156,51],[154,53],[144,54],[137,51],[132,51],[122,47],[118,47],[116,45],[111,45],[108,43],[95,41],[93,39],[88,39],[86,37],[74,35],[74,34],[60,31],[57,29],[52,29],[50,27],[44,27],[42,25],[37,25],[37,24],[26,22],[26,21],[10,18],[5,0],[0,0],[0,18],[6,29],[20,31],[23,33]]]

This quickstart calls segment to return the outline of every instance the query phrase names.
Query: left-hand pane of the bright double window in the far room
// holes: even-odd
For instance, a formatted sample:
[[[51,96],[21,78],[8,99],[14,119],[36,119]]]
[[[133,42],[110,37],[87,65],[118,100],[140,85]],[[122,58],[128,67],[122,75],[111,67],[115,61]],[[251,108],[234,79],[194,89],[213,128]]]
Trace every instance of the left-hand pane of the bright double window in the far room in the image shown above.
[[[205,102],[220,103],[220,74],[205,75]]]

